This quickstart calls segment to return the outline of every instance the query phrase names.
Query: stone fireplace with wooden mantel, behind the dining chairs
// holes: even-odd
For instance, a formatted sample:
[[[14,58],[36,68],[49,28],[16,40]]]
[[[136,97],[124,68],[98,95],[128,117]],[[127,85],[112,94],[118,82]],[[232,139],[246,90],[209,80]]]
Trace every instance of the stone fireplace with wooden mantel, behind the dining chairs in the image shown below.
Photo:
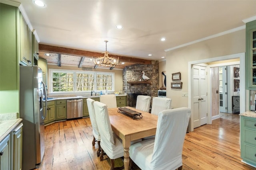
[[[128,95],[128,106],[134,106],[136,94],[156,97],[159,90],[159,62],[151,61],[151,64],[133,64],[123,69],[123,91]],[[150,80],[143,80],[142,71]],[[141,80],[141,81],[140,81]],[[138,95],[137,95],[138,96]],[[152,99],[151,99],[152,101]]]

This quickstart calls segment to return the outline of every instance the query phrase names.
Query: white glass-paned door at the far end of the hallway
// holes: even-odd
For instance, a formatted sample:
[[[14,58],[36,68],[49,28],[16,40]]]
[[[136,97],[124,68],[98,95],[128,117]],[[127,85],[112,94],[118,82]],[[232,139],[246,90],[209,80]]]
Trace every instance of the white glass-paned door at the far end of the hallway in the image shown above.
[[[228,113],[227,66],[219,67],[220,112]]]

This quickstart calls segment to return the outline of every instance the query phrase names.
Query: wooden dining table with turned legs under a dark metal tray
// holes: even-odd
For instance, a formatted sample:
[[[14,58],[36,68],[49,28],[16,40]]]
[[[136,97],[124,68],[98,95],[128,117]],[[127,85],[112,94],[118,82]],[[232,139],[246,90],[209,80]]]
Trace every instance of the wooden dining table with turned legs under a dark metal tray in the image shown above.
[[[122,139],[124,147],[124,169],[128,170],[131,141],[155,135],[158,116],[140,111],[133,107],[127,106],[126,108],[138,111],[141,113],[142,118],[137,116],[133,119],[133,117],[122,112],[118,113],[118,108],[108,109],[108,115],[112,130],[118,137],[120,137],[120,139]]]

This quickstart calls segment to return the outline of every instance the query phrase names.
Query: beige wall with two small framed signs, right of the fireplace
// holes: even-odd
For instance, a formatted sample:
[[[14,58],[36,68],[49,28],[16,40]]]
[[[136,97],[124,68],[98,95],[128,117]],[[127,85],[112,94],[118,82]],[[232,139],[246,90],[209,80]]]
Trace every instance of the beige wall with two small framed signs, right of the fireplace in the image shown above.
[[[172,107],[188,107],[188,62],[245,52],[245,29],[212,38],[166,53],[166,93]],[[181,72],[182,89],[170,88],[172,73]]]

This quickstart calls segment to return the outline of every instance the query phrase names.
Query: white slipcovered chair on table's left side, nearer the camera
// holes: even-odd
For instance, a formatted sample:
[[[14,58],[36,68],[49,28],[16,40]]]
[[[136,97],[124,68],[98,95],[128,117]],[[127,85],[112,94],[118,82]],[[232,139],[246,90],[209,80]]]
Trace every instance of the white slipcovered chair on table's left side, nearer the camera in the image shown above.
[[[96,101],[94,102],[94,109],[95,113],[97,113],[96,121],[101,137],[100,145],[102,151],[100,153],[100,160],[103,160],[105,152],[111,159],[110,170],[114,170],[114,159],[124,156],[122,140],[112,131],[106,104]]]

